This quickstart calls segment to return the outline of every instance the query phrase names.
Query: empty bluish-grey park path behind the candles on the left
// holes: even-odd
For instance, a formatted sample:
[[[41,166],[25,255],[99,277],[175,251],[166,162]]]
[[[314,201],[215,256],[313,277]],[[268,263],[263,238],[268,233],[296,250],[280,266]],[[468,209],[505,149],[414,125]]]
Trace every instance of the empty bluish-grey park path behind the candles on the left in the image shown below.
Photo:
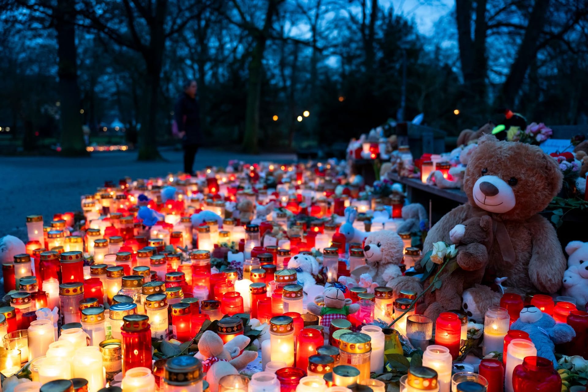
[[[26,215],[41,214],[44,222],[57,212],[81,210],[80,196],[94,193],[105,180],[165,176],[183,168],[180,151],[163,150],[165,160],[139,162],[135,152],[93,153],[91,158],[58,156],[0,157],[0,236],[12,234],[26,241]],[[293,154],[248,155],[201,149],[194,169],[226,166],[230,159],[245,162],[292,162]]]

